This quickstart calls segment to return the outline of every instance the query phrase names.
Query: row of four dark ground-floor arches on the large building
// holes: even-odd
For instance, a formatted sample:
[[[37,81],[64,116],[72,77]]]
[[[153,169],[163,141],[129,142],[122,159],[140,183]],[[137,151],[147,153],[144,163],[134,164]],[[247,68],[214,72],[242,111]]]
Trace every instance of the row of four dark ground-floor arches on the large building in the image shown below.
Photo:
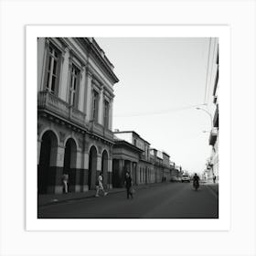
[[[101,170],[97,170],[98,152],[95,145],[91,145],[89,151],[88,170],[78,166],[79,148],[74,138],[69,137],[62,152],[59,153],[59,139],[56,133],[51,130],[45,131],[41,136],[40,153],[37,166],[37,191],[38,194],[59,193],[62,191],[61,177],[69,175],[69,192],[82,192],[84,187],[94,189],[97,177],[100,172],[103,175],[104,186],[110,183],[108,176],[107,150],[101,154]],[[64,158],[64,159],[63,159]]]

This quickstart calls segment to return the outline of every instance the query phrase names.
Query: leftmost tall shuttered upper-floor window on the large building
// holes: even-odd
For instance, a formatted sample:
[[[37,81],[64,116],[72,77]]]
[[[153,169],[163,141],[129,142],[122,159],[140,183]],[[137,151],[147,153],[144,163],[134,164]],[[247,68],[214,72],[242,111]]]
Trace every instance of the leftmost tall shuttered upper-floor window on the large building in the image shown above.
[[[58,91],[59,59],[59,50],[52,45],[49,45],[46,88],[52,93],[57,93]]]

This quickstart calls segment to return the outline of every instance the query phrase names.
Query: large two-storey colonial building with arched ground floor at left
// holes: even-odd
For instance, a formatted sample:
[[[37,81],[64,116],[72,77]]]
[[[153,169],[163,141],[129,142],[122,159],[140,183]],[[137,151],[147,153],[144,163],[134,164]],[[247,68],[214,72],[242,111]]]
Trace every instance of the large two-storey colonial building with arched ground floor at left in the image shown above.
[[[37,38],[37,191],[112,187],[113,65],[92,37]]]

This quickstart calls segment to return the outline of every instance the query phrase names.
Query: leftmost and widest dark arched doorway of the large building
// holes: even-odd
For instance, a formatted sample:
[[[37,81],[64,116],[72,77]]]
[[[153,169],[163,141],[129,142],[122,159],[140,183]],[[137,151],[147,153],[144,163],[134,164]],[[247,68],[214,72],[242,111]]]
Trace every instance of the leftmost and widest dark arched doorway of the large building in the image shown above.
[[[48,187],[54,185],[54,180],[50,173],[50,166],[56,162],[56,147],[58,139],[55,133],[47,131],[42,136],[39,165],[37,166],[37,192],[47,194]]]

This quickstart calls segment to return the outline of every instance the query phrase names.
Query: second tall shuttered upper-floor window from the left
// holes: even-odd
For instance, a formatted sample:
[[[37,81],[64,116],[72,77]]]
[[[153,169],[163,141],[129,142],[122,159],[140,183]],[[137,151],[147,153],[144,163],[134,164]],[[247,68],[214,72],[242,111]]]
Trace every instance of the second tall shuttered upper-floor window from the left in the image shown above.
[[[69,85],[69,104],[78,108],[79,103],[79,82],[80,82],[80,69],[72,64],[70,85]]]

